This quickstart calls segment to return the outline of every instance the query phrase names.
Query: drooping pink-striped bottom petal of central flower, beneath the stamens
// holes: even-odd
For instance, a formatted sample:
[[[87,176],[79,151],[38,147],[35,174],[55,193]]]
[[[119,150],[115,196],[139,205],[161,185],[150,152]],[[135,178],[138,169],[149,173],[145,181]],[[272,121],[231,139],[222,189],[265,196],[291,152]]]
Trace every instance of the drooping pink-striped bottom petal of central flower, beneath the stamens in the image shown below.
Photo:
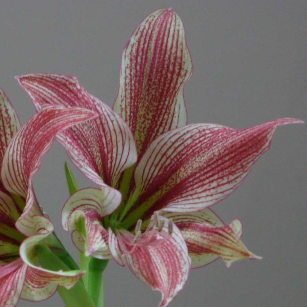
[[[117,231],[117,249],[110,245],[114,258],[122,259],[132,273],[162,293],[160,307],[167,306],[184,287],[191,259],[180,230],[162,216],[152,218],[146,231],[133,235]]]

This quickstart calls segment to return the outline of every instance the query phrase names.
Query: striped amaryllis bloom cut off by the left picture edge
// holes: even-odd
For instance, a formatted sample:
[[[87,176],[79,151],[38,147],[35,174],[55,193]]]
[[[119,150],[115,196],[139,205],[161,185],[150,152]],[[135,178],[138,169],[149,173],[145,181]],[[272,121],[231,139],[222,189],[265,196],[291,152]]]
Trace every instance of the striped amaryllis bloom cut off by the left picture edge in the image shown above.
[[[47,270],[37,263],[37,244],[58,250],[63,246],[37,203],[32,177],[59,131],[94,116],[90,110],[49,105],[20,128],[14,108],[0,89],[0,306],[14,306],[19,297],[46,299],[58,285],[70,289],[83,274]]]

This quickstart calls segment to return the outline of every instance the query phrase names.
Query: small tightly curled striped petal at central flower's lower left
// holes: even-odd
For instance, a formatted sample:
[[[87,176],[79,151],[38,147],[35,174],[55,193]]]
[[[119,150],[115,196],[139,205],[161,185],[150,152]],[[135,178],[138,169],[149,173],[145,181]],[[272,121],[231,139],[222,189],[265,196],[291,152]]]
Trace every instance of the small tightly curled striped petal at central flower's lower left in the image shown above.
[[[103,217],[111,214],[121,203],[121,193],[114,188],[84,188],[70,196],[62,210],[64,230],[76,228],[76,223],[84,220],[86,236],[75,230],[72,239],[76,247],[87,256],[100,259],[112,258],[107,247],[107,231],[103,227]]]

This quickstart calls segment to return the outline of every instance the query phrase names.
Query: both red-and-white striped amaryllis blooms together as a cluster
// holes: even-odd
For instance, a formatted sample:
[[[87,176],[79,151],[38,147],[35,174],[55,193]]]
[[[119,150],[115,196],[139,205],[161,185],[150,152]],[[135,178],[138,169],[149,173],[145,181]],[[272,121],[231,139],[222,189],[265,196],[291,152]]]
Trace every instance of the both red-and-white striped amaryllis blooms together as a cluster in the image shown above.
[[[301,121],[243,130],[188,125],[183,89],[191,75],[181,19],[162,9],[142,21],[122,52],[113,109],[74,76],[28,74],[17,79],[38,113],[19,128],[1,93],[0,306],[14,306],[19,297],[45,299],[84,273],[39,262],[41,247],[64,252],[31,183],[53,138],[97,185],[69,197],[64,229],[73,230],[85,256],[115,259],[159,290],[159,306],[184,287],[191,268],[217,258],[227,266],[260,258],[240,240],[240,221],[224,224],[209,207],[241,184],[279,125]]]

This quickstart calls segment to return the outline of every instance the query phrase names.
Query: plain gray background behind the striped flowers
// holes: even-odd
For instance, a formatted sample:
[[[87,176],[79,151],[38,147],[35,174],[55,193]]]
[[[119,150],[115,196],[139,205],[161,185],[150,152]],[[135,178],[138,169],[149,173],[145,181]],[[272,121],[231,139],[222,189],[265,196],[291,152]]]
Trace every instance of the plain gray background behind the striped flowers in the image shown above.
[[[185,88],[189,122],[244,128],[279,117],[306,120],[306,1],[0,1],[0,85],[21,122],[34,113],[14,80],[29,72],[77,75],[84,87],[112,105],[122,48],[153,10],[181,16],[194,63]],[[54,144],[34,179],[38,199],[74,256],[60,226],[67,198],[64,150]],[[80,186],[90,183],[75,171]],[[261,261],[227,269],[221,260],[192,270],[169,306],[305,306],[306,127],[283,126],[272,148],[241,187],[214,206],[244,225],[243,242]],[[157,306],[152,292],[127,268],[105,271],[105,306]],[[51,299],[18,306],[62,306]]]

